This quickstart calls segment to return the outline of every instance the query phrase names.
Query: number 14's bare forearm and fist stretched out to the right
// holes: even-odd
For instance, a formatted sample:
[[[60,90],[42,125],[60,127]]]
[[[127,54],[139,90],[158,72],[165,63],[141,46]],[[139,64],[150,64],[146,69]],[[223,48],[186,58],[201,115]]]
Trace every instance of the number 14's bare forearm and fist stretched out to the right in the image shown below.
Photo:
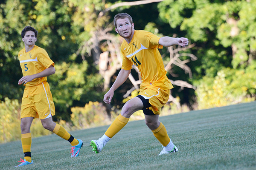
[[[181,38],[173,38],[173,37],[161,37],[158,41],[159,45],[163,45],[165,47],[169,47],[172,45],[180,45],[182,47],[186,47],[189,45],[189,39],[181,37]]]

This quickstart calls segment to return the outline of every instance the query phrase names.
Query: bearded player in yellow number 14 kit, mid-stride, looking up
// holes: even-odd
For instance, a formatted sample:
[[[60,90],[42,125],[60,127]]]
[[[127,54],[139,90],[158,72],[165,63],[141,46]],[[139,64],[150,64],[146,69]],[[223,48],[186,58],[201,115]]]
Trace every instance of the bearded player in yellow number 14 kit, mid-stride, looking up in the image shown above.
[[[117,14],[114,17],[114,24],[116,32],[125,39],[121,45],[122,69],[105,94],[104,102],[108,104],[111,102],[114,91],[128,78],[133,64],[138,67],[142,79],[140,94],[125,103],[121,113],[105,134],[98,140],[92,140],[90,145],[96,153],[101,152],[105,144],[127,124],[130,116],[135,111],[143,110],[145,124],[163,145],[159,155],[178,152],[166,128],[159,121],[160,109],[168,101],[173,86],[166,77],[163,60],[157,48],[172,45],[185,47],[189,41],[183,37],[157,37],[148,31],[134,30],[132,18],[127,13]]]

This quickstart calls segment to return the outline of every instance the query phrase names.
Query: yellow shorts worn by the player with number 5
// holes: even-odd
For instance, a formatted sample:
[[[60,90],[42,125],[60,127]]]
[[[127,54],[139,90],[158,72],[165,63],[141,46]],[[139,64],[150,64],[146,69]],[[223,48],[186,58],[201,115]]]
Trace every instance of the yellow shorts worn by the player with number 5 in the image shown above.
[[[47,119],[53,115],[55,115],[55,106],[47,82],[24,89],[20,119],[24,117]]]

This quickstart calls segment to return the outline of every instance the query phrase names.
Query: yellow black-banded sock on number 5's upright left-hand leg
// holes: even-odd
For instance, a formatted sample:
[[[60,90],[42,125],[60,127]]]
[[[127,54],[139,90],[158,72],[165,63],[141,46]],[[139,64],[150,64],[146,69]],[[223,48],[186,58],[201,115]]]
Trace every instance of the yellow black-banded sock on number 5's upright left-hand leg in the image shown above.
[[[31,133],[21,134],[21,144],[24,153],[24,159],[31,162]]]

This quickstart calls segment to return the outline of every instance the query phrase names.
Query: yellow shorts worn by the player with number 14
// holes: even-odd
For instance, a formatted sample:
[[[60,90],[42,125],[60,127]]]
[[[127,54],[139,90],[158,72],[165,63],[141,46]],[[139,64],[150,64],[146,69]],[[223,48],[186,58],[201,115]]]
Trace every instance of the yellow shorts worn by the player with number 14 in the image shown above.
[[[140,87],[140,96],[148,99],[148,102],[151,104],[151,107],[148,109],[153,111],[155,115],[160,114],[161,108],[168,102],[169,95],[170,89],[163,90],[153,85]]]

